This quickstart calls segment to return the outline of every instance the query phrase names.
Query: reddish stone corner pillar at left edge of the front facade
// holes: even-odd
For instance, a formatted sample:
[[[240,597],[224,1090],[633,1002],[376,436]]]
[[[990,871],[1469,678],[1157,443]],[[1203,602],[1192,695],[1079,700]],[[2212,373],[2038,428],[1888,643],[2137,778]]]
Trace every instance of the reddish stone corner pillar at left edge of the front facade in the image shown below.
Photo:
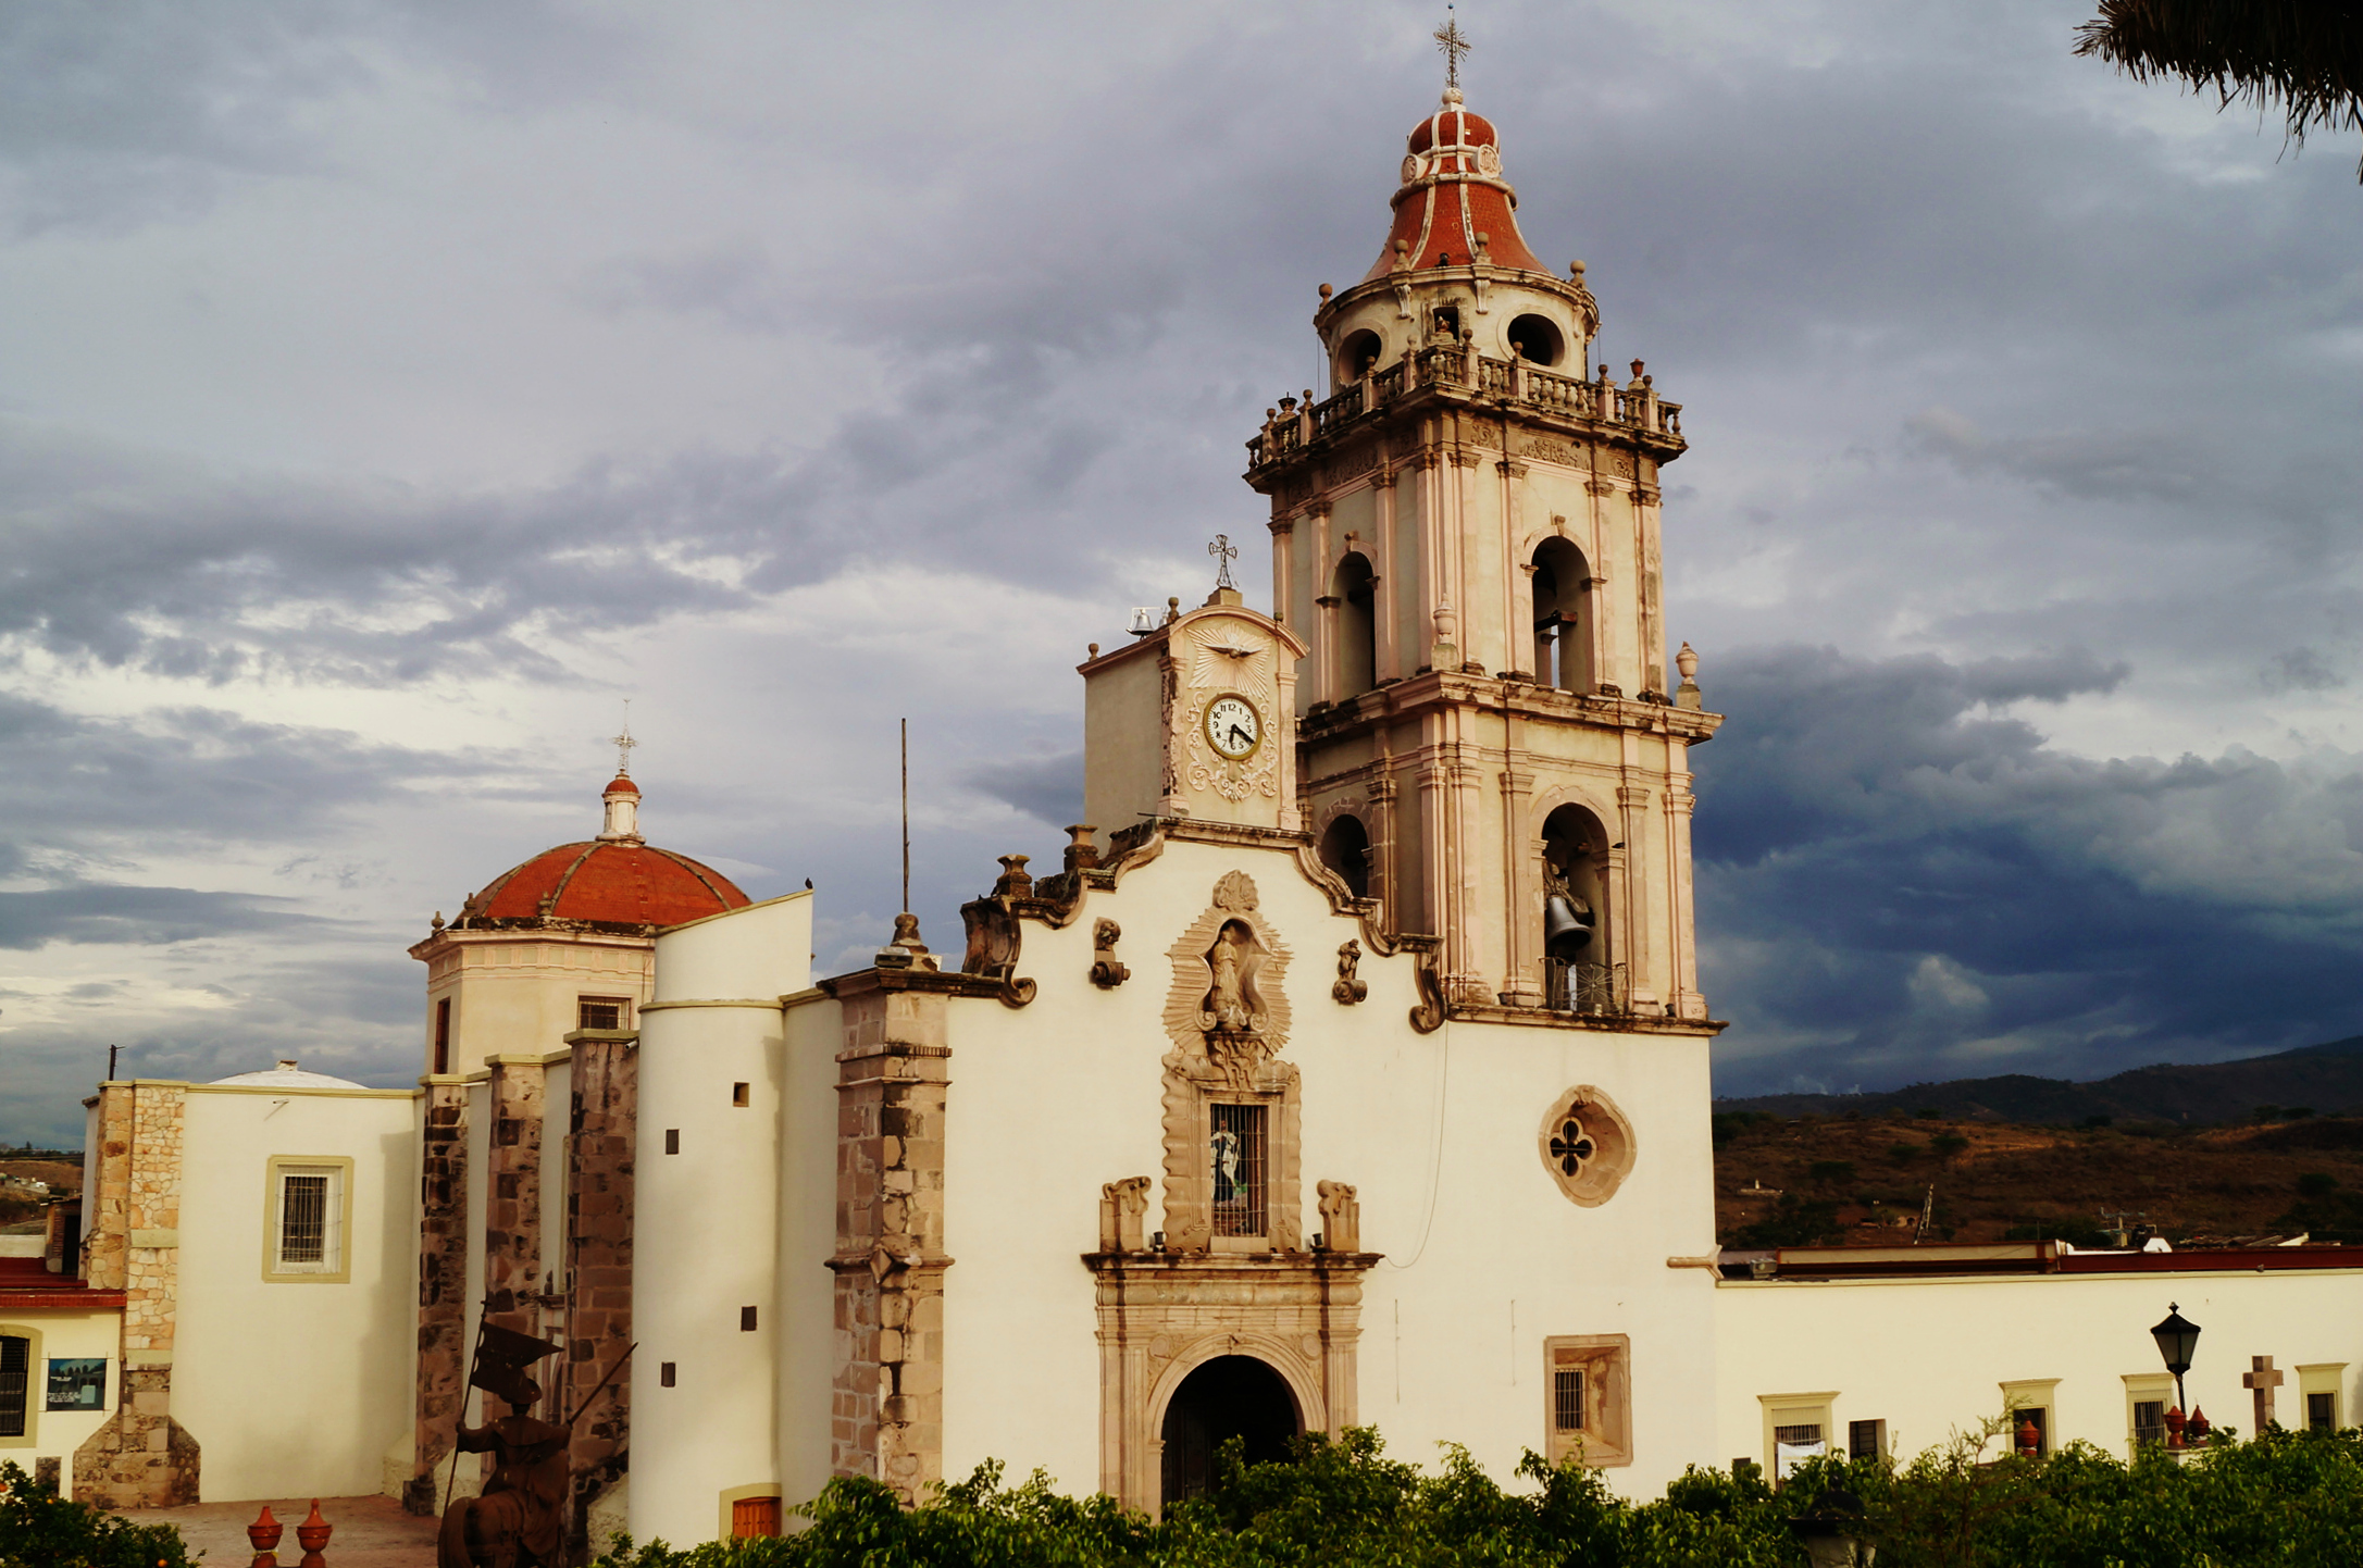
[[[943,1478],[945,997],[926,975],[839,982],[837,1377],[829,1459],[905,1504]]]

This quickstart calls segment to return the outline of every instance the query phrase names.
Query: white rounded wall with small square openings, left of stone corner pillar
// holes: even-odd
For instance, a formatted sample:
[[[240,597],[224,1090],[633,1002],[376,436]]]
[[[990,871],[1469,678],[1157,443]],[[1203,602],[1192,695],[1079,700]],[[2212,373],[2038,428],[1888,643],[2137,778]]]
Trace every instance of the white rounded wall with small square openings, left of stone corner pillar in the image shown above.
[[[775,1485],[780,997],[811,982],[796,893],[657,937],[640,1008],[631,1533],[711,1540],[721,1497]],[[747,1084],[747,1105],[733,1103]],[[666,1152],[666,1131],[678,1152]],[[742,1308],[756,1308],[754,1332]],[[676,1384],[664,1386],[664,1365]]]

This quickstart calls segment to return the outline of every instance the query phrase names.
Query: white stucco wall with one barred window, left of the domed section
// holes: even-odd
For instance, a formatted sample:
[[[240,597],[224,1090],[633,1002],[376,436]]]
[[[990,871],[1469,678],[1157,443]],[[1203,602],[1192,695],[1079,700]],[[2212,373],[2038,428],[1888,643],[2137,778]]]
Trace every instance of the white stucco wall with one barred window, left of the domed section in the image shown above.
[[[352,1159],[350,1280],[267,1282],[269,1159]],[[354,1495],[411,1426],[418,1096],[191,1084],[172,1415],[203,1500]]]

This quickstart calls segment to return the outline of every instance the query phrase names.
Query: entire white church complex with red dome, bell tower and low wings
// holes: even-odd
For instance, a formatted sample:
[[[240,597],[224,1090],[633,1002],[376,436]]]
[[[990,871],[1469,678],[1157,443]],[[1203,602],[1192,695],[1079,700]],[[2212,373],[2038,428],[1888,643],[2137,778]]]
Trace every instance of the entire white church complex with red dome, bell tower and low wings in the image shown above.
[[[480,1485],[454,1431],[499,1403],[468,1389],[484,1322],[565,1346],[577,1547],[768,1533],[832,1476],[919,1500],[983,1459],[1153,1511],[1226,1438],[1347,1426],[1635,1495],[2006,1405],[2127,1452],[2172,1398],[2169,1296],[2224,1346],[2191,1379],[2219,1417],[2287,1367],[2280,1419],[2346,1424],[2346,1249],[1718,1254],[1687,751],[1720,718],[1659,567],[1680,406],[1590,366],[1583,267],[1515,205],[1446,92],[1378,262],[1321,290],[1328,387],[1248,442],[1271,609],[1222,579],[1089,649],[1089,822],[1056,869],[1004,857],[957,954],[903,916],[815,978],[815,895],[650,848],[619,775],[598,838],[411,949],[416,1091],[104,1084],[80,1261],[50,1266],[104,1287],[76,1344],[123,1313],[144,1426],[50,1422],[76,1488],[440,1509]],[[163,1207],[198,1185],[206,1219]],[[317,1216],[354,1195],[331,1252]],[[201,1254],[239,1259],[232,1315],[142,1285],[227,1292]],[[258,1448],[206,1393],[255,1355],[232,1320],[354,1389],[350,1443]]]

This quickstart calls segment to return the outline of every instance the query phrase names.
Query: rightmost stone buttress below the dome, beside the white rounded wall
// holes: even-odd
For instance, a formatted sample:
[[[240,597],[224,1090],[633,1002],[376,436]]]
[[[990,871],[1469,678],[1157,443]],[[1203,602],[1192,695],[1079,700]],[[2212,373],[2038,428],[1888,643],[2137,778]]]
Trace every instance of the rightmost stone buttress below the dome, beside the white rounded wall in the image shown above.
[[[631,1462],[631,1372],[591,1391],[631,1348],[633,1136],[640,1105],[636,1034],[584,1030],[574,1046],[572,1155],[567,1159],[567,1358],[565,1405],[581,1407],[567,1464],[567,1549],[588,1561],[591,1511],[624,1481]],[[584,1400],[591,1400],[584,1405]]]

